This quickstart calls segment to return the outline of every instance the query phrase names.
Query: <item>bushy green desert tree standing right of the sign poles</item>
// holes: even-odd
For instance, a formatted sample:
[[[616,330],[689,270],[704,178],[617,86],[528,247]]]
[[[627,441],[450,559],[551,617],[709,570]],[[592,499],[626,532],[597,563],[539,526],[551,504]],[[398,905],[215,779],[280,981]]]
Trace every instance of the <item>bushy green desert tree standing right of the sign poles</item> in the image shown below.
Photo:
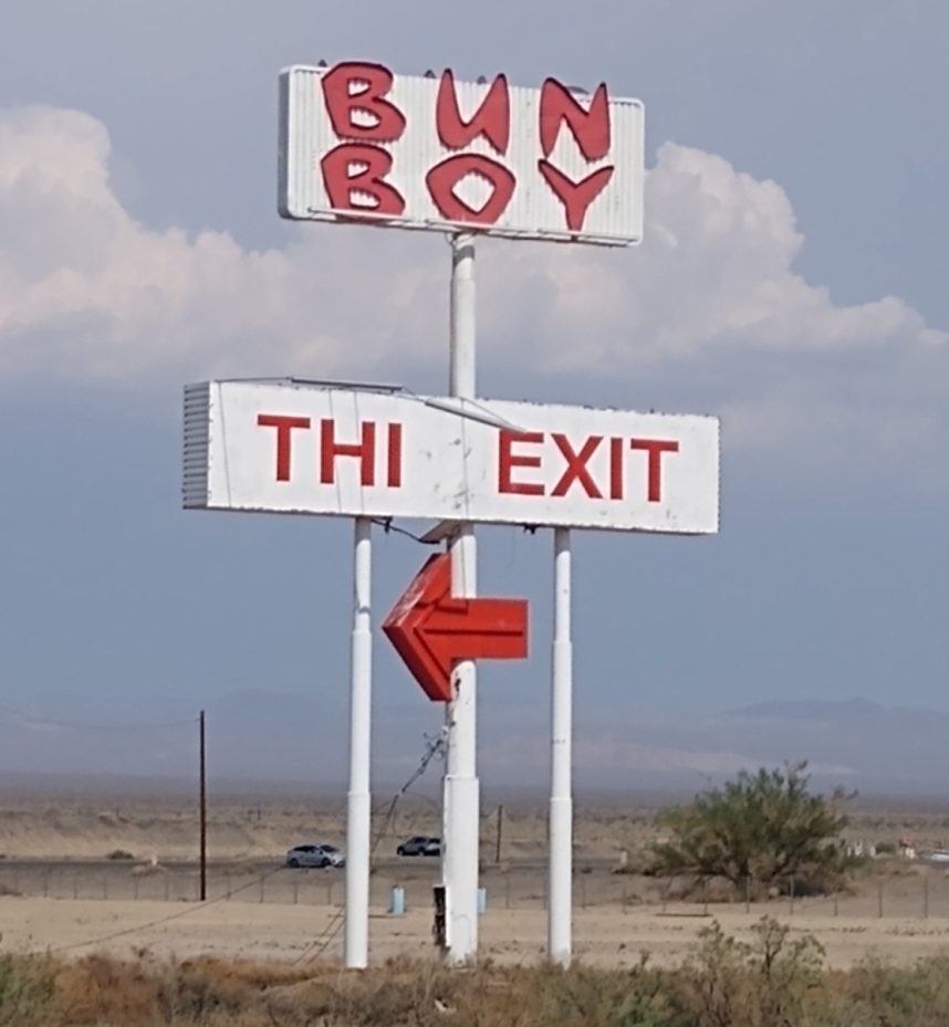
[[[849,860],[839,835],[851,796],[809,790],[806,763],[757,774],[748,771],[710,788],[688,806],[661,814],[668,838],[653,847],[653,870],[667,876],[724,878],[737,891],[794,882],[799,890],[827,891],[839,883]]]

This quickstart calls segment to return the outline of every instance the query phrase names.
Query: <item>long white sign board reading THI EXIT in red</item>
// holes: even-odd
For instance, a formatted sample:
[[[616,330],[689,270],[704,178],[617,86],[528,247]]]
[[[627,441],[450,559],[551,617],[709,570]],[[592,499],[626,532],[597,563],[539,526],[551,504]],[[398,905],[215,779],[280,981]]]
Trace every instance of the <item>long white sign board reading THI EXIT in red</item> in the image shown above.
[[[190,509],[703,534],[718,496],[709,417],[292,380],[185,390]]]

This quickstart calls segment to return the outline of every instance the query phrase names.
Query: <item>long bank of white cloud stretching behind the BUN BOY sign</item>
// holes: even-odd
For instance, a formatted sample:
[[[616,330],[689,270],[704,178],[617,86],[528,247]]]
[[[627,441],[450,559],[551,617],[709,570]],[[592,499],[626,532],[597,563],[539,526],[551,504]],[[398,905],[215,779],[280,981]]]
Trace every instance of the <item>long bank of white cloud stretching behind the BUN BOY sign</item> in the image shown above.
[[[157,231],[124,209],[108,160],[85,114],[0,113],[0,374],[411,380],[444,360],[447,260],[430,237],[303,226],[248,251],[226,232]],[[688,378],[731,446],[945,441],[949,336],[897,297],[835,304],[793,270],[802,244],[780,186],[667,144],[640,249],[483,248],[483,352],[522,374]]]

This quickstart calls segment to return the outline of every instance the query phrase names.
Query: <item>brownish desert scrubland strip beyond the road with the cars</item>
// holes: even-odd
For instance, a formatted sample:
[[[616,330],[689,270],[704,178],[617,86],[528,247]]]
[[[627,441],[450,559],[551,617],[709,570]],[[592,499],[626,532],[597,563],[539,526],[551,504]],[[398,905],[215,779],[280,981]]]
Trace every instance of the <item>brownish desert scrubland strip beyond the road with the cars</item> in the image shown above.
[[[434,795],[434,793],[432,793]],[[411,834],[440,834],[435,798],[408,796],[390,821],[388,797],[377,794],[374,829],[382,832],[379,852],[392,855],[397,840]],[[685,798],[685,797],[682,797]],[[667,800],[668,801],[668,800]],[[655,837],[653,820],[661,798],[632,798],[576,804],[576,862],[617,860]],[[846,835],[896,843],[910,836],[921,849],[949,847],[949,804],[911,799],[861,800],[852,810]],[[482,859],[493,860],[496,806],[487,801],[482,817]],[[279,797],[216,796],[209,811],[209,846],[213,859],[280,857],[305,840],[342,845],[345,798],[313,801]],[[191,796],[153,798],[61,798],[0,794],[0,859],[97,859],[123,849],[137,859],[195,859],[197,809]],[[540,859],[545,852],[546,810],[542,803],[505,803],[502,859]]]

